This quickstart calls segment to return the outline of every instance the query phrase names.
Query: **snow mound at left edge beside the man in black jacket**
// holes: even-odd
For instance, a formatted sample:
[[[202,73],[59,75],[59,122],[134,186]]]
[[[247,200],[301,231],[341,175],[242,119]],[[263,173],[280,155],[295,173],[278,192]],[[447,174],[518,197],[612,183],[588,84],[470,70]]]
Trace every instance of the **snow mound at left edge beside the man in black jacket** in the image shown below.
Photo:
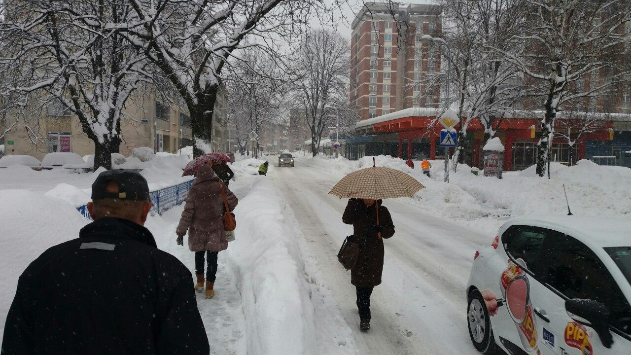
[[[20,274],[51,246],[78,238],[88,220],[68,203],[31,191],[0,190],[0,201],[1,343]]]

